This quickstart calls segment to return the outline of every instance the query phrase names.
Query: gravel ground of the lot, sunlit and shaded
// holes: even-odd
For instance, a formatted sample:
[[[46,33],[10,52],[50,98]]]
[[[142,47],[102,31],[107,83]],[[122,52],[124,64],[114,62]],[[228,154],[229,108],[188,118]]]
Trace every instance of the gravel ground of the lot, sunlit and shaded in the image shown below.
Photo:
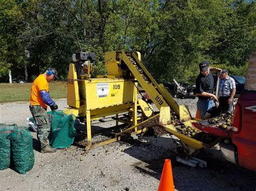
[[[66,100],[56,101],[63,110]],[[196,100],[187,103],[194,116]],[[0,123],[28,126],[28,102],[0,104]],[[95,124],[113,126],[116,122]],[[12,168],[0,171],[0,190],[156,190],[166,158],[172,161],[177,190],[255,190],[256,173],[221,157],[218,150],[204,149],[198,158],[205,168],[193,168],[177,162],[176,144],[170,135],[147,136],[112,143],[85,152],[73,144],[56,153],[38,152],[33,136],[35,165],[26,174]]]

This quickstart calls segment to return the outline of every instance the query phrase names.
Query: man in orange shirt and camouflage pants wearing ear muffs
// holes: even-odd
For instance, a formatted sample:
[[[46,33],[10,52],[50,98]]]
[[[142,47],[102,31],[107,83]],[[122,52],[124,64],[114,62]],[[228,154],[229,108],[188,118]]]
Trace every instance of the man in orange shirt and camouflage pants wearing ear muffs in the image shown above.
[[[41,145],[42,153],[56,152],[57,148],[49,145],[50,122],[46,113],[47,106],[51,110],[58,109],[58,105],[49,94],[48,82],[59,79],[55,68],[48,68],[44,74],[40,74],[33,82],[30,91],[30,112],[37,125],[37,139]]]

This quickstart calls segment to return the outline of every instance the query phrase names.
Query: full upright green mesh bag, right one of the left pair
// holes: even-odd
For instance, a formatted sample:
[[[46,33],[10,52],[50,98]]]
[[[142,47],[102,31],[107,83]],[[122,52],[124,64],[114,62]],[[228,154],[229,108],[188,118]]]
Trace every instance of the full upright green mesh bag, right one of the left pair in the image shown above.
[[[34,165],[33,138],[26,128],[16,128],[9,135],[11,140],[11,154],[18,173],[25,174]]]

